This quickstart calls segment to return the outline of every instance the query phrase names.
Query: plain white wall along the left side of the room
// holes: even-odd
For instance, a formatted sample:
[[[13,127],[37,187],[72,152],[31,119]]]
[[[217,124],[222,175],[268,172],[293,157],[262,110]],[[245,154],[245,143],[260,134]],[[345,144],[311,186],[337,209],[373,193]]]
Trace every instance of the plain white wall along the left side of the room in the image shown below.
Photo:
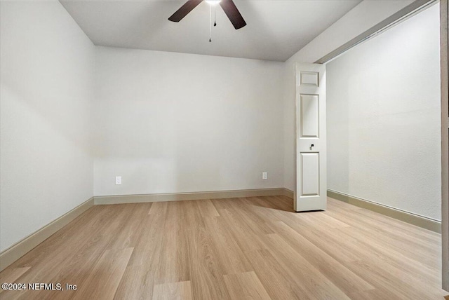
[[[1,1],[0,249],[93,195],[94,46],[58,1]]]

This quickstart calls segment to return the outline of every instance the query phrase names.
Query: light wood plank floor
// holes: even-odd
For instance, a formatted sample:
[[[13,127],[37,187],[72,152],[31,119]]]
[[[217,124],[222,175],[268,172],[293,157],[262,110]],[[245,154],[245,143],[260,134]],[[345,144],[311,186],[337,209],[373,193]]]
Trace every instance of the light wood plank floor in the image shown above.
[[[0,273],[1,299],[443,299],[441,236],[328,200],[96,205]]]

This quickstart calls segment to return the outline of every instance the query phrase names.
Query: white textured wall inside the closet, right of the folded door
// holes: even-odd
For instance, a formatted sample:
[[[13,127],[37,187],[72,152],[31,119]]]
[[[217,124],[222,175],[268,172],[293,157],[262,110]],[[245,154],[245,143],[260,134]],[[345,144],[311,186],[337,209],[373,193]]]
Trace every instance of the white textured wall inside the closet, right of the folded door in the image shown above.
[[[441,219],[438,5],[327,64],[328,189]]]

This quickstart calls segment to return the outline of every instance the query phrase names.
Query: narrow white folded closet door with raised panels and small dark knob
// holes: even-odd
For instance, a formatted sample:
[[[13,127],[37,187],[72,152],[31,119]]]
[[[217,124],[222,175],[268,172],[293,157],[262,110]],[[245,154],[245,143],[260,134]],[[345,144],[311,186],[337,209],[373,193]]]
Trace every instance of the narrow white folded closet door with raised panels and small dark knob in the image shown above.
[[[326,210],[326,67],[296,64],[295,211]]]

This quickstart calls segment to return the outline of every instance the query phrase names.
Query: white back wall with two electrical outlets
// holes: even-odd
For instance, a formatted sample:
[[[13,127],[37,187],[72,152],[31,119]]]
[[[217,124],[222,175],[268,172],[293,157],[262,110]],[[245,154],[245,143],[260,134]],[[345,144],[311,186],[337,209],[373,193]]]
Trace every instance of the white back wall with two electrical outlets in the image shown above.
[[[96,53],[95,196],[283,186],[283,63]]]

